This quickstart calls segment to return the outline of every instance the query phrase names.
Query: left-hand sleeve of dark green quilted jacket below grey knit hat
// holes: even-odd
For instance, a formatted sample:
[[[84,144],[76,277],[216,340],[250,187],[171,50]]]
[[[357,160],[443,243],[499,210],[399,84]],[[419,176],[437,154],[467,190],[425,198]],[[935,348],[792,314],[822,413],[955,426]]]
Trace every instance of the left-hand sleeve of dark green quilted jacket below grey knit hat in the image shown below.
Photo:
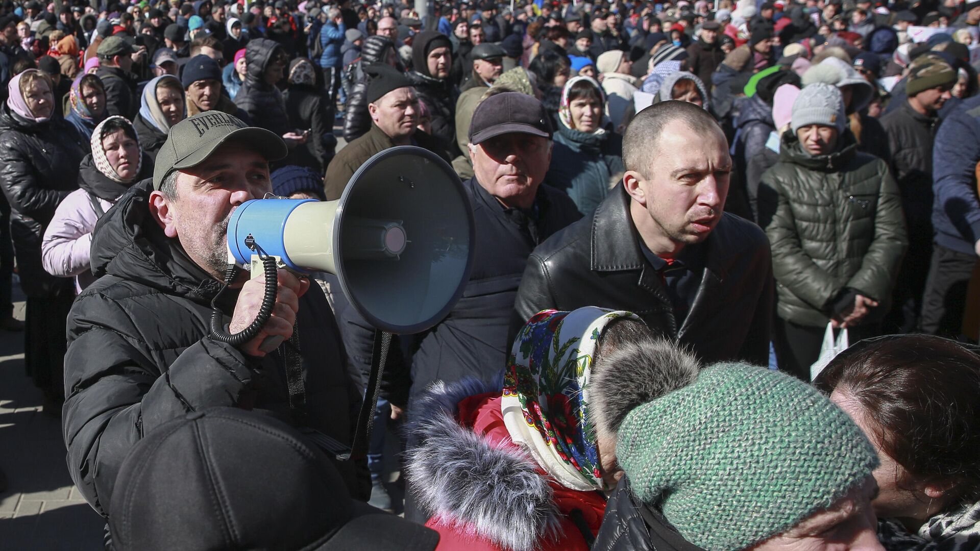
[[[766,171],[759,185],[759,224],[772,248],[772,275],[801,300],[825,311],[840,289],[804,251],[793,209],[779,190],[778,177],[774,171]]]

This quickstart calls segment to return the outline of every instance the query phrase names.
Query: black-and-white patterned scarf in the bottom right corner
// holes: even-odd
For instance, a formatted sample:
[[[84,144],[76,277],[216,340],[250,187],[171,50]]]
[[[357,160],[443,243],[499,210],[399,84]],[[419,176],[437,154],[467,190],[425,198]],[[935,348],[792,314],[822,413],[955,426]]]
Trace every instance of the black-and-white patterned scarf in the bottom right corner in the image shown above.
[[[878,539],[887,551],[973,551],[980,546],[980,503],[940,513],[914,534],[898,521],[879,519]]]

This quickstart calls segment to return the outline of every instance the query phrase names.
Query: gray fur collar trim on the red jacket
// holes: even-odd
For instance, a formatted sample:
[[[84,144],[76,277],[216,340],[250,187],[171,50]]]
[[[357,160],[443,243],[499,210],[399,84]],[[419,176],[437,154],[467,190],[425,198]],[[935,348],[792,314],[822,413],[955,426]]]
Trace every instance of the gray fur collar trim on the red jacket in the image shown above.
[[[445,526],[514,551],[531,551],[560,531],[548,479],[515,449],[494,446],[456,421],[467,396],[503,385],[476,379],[433,384],[413,404],[408,482],[424,510]]]

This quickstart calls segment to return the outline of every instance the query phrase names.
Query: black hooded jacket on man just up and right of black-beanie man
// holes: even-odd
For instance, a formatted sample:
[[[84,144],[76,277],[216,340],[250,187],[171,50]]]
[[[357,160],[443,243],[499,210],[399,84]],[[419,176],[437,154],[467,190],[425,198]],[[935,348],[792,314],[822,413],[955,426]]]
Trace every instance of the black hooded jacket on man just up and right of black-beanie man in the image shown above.
[[[418,101],[425,102],[432,115],[432,137],[439,140],[443,149],[455,157],[456,152],[456,123],[454,108],[460,93],[453,85],[452,78],[435,78],[429,75],[425,58],[425,50],[435,40],[449,39],[436,31],[419,32],[412,44],[414,69],[409,73],[412,86],[416,89]],[[451,64],[452,65],[452,64]]]

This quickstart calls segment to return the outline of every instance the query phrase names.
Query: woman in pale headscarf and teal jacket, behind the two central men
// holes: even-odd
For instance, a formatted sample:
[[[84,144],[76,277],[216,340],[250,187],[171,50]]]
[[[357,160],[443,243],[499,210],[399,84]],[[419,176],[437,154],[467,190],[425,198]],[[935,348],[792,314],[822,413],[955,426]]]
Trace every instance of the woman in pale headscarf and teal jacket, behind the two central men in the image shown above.
[[[559,126],[546,181],[563,189],[578,211],[589,216],[619,180],[622,137],[603,115],[606,94],[588,76],[573,76],[564,85]]]

